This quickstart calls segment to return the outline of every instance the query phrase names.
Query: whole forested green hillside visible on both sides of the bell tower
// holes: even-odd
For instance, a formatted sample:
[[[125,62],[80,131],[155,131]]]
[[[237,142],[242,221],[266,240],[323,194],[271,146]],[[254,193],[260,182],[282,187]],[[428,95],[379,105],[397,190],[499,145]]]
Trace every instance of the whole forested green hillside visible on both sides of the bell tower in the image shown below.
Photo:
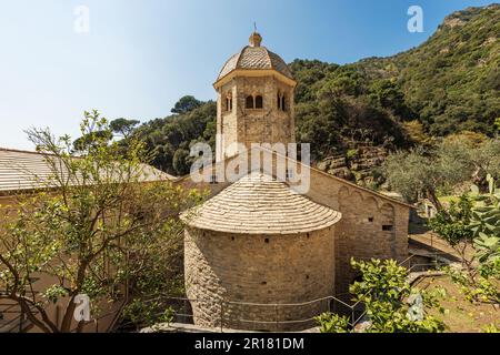
[[[324,171],[360,183],[387,154],[462,131],[493,135],[500,116],[500,6],[450,14],[418,48],[338,65],[294,60],[297,141]],[[182,98],[137,129],[154,165],[189,171],[189,146],[214,141],[214,102]]]

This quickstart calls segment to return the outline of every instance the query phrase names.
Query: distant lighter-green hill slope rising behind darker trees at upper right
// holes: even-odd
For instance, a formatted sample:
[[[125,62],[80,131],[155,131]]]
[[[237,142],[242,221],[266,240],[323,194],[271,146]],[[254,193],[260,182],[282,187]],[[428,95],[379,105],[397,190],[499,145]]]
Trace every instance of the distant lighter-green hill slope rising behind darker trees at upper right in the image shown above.
[[[369,80],[392,79],[431,134],[493,133],[500,111],[500,6],[448,16],[423,44],[358,63]]]

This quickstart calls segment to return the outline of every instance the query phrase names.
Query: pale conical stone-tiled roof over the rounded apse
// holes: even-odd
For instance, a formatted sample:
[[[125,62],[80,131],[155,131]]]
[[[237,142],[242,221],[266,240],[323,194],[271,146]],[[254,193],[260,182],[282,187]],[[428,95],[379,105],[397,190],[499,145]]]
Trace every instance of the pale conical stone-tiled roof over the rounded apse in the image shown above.
[[[296,234],[329,227],[341,213],[294,192],[284,182],[253,172],[187,211],[188,225],[240,234]]]

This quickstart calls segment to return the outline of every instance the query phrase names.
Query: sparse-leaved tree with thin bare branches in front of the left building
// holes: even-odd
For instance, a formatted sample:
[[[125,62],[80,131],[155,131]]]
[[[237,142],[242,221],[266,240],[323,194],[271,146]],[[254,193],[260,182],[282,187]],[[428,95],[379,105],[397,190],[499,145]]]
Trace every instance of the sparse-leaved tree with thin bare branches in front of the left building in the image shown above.
[[[82,329],[84,322],[73,321],[80,294],[99,316],[102,305],[123,301],[129,283],[138,291],[146,281],[166,285],[181,273],[171,260],[181,258],[178,215],[199,197],[161,176],[143,183],[154,178],[143,143],[121,150],[97,111],[86,112],[81,129],[89,144],[78,158],[69,136],[28,132],[49,168],[33,179],[47,189],[20,195],[18,210],[2,211],[0,220],[0,298],[16,302],[48,333]],[[63,306],[59,323],[47,313],[51,303]]]

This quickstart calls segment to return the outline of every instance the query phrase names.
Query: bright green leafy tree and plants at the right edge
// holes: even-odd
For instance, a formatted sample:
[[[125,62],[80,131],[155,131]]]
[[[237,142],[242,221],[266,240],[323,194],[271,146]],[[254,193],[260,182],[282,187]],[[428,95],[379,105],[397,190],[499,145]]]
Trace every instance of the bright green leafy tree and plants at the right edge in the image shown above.
[[[489,175],[489,192],[473,185],[447,213],[438,213],[430,227],[451,247],[461,268],[444,270],[471,302],[500,302],[500,193]]]

